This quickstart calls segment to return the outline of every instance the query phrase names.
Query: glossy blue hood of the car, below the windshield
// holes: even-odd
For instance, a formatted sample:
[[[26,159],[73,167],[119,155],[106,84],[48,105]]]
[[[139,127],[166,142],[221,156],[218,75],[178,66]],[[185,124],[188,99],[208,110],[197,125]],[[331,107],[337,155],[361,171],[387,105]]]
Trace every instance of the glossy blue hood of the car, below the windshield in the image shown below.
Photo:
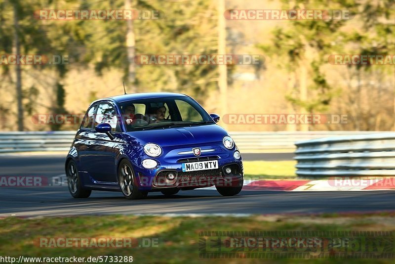
[[[222,141],[228,132],[217,124],[202,125],[195,127],[177,127],[155,129],[147,131],[127,132],[132,141],[144,145],[148,142],[157,143],[160,146],[175,146],[183,144],[199,144]]]

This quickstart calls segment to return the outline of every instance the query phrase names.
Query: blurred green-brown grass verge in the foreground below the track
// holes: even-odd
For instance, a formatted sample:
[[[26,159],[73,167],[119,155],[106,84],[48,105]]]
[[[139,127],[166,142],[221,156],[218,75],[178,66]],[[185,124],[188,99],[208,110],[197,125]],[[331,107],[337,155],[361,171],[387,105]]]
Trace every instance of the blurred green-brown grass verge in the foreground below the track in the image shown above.
[[[308,237],[322,237],[319,231],[392,231],[394,214],[381,215],[322,215],[322,216],[251,216],[251,217],[159,217],[159,216],[87,216],[40,219],[0,219],[0,256],[18,257],[89,257],[133,256],[134,263],[338,263],[339,259],[321,258],[262,259],[228,258],[203,259],[199,257],[201,243],[212,243],[216,237],[199,236],[202,231],[281,231],[283,237],[292,237],[291,231],[309,231]],[[285,233],[284,233],[285,232]],[[289,233],[287,233],[289,232]],[[315,235],[316,234],[316,235]],[[250,235],[251,236],[251,235]],[[276,234],[272,234],[272,237]],[[347,239],[347,234],[343,238]],[[365,235],[362,235],[362,238]],[[39,238],[99,238],[133,237],[158,239],[155,248],[42,248],[34,241]],[[300,237],[300,235],[299,235]],[[225,237],[222,237],[223,239]],[[226,239],[225,239],[226,240]],[[225,241],[224,240],[224,241]],[[385,243],[380,240],[380,243]],[[392,240],[394,237],[392,236]],[[391,242],[390,241],[390,242]],[[199,247],[200,243],[200,247]],[[205,244],[208,245],[208,244]],[[211,244],[210,244],[211,245]],[[384,244],[371,251],[383,250]],[[326,245],[327,247],[328,245]],[[224,246],[223,246],[224,247]],[[351,247],[351,246],[350,246]],[[215,247],[206,250],[215,251]],[[223,248],[224,249],[224,248]],[[224,249],[229,251],[229,249]],[[281,249],[276,249],[281,250]],[[299,251],[311,249],[297,249]],[[343,249],[335,249],[344,250]],[[394,245],[389,248],[394,252]],[[333,250],[332,250],[333,253]],[[312,255],[314,256],[314,254]],[[343,260],[345,261],[345,260]],[[347,263],[371,263],[373,259],[349,259]],[[375,263],[393,263],[393,259],[374,260]]]

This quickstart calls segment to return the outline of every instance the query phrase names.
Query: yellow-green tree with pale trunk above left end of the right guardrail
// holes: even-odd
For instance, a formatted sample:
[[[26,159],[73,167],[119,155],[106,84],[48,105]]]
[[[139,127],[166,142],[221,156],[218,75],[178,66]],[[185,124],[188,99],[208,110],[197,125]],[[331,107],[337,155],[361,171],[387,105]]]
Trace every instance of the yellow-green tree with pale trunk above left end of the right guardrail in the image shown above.
[[[282,2],[285,10],[347,9],[351,15],[356,13],[358,7],[355,1],[334,1],[330,4],[321,0],[298,0],[292,4]],[[335,47],[333,42],[341,36],[346,23],[347,20],[337,19],[290,20],[286,27],[277,27],[273,32],[272,44],[258,45],[267,55],[279,58],[278,66],[294,76],[290,78],[290,91],[286,95],[292,108],[296,106],[299,111],[307,113],[324,111],[338,94],[337,89],[326,81],[321,67],[328,63],[329,54],[342,48],[344,43],[338,43]]]

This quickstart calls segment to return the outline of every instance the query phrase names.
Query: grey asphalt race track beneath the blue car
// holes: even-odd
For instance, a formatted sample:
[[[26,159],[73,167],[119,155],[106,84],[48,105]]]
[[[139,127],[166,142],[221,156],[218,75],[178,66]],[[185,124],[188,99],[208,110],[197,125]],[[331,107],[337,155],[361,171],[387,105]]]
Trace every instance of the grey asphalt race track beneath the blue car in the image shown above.
[[[64,156],[2,155],[0,176],[64,174]],[[90,214],[311,214],[395,210],[394,191],[278,192],[241,191],[223,197],[214,190],[180,191],[171,198],[150,193],[144,200],[126,200],[119,192],[94,191],[73,199],[67,186],[0,187],[0,217]]]

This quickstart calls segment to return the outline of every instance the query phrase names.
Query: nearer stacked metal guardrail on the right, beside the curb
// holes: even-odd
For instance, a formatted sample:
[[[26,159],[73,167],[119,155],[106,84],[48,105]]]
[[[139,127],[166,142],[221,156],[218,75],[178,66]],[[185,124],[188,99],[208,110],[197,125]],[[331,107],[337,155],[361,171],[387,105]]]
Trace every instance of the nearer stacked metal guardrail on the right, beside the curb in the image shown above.
[[[296,142],[298,176],[395,176],[395,133]]]

